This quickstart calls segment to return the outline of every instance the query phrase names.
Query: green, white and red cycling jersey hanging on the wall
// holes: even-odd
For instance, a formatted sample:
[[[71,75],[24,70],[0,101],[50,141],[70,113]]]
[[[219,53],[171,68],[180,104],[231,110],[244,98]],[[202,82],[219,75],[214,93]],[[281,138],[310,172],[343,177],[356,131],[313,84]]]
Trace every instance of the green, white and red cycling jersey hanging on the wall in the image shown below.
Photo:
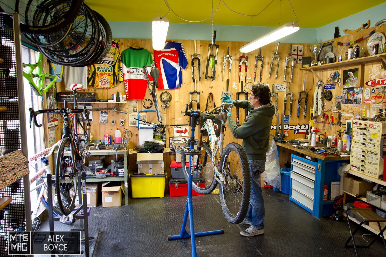
[[[130,47],[122,51],[122,73],[127,99],[145,98],[147,81],[143,67],[150,66],[152,62],[151,53],[146,49]]]

